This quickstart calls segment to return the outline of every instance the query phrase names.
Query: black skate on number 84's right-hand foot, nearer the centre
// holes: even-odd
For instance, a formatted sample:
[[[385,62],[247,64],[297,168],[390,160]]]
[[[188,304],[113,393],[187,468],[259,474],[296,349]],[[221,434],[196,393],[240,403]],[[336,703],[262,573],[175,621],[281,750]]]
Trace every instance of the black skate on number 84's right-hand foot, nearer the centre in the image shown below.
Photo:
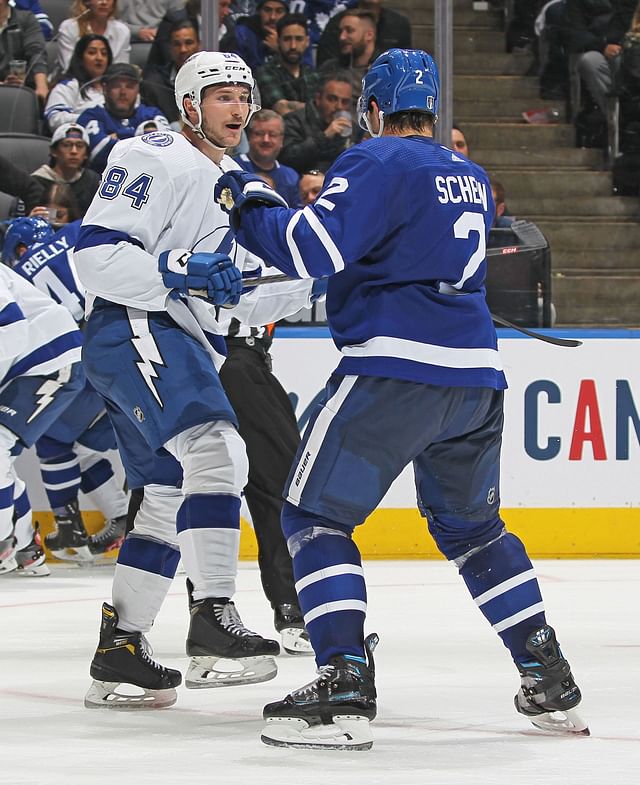
[[[248,630],[236,606],[226,597],[193,600],[191,581],[187,654],[191,657],[185,687],[228,687],[269,681],[278,672],[273,659],[280,653],[277,641]]]

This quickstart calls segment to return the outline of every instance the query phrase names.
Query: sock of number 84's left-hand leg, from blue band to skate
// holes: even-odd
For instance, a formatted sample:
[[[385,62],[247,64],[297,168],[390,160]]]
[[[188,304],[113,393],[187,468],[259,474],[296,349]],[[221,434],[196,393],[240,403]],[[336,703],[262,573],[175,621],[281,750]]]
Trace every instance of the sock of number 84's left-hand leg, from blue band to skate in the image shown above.
[[[176,573],[180,552],[169,543],[130,534],[122,544],[113,576],[118,629],[148,632]]]

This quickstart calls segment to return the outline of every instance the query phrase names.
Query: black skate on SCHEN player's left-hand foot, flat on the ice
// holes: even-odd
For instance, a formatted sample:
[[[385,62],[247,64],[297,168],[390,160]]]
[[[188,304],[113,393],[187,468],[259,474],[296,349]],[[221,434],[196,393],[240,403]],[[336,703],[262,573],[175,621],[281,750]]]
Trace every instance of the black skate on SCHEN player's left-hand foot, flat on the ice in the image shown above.
[[[369,723],[376,716],[373,650],[377,644],[375,633],[367,636],[366,665],[348,656],[333,657],[310,684],[267,704],[262,741],[273,747],[370,749]]]

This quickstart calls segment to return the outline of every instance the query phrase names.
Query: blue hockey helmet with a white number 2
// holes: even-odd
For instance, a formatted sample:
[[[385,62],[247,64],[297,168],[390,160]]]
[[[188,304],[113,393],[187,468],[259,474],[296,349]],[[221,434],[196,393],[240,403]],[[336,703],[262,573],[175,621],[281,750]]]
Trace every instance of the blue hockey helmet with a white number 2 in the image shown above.
[[[377,57],[362,80],[358,101],[360,127],[369,131],[367,112],[371,99],[380,107],[380,131],[384,116],[414,110],[438,118],[440,78],[431,55],[422,49],[388,49]]]

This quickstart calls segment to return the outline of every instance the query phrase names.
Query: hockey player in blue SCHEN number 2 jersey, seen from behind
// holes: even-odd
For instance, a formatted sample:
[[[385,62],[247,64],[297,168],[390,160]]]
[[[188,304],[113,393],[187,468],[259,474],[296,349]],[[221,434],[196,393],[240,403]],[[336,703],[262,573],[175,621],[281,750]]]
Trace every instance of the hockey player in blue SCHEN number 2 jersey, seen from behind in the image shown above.
[[[508,648],[534,725],[588,733],[523,544],[500,518],[506,381],[485,302],[487,174],[432,138],[433,59],[380,55],[363,80],[372,139],[343,153],[313,205],[279,206],[246,173],[220,178],[236,237],[291,276],[330,276],[342,360],[306,429],[282,513],[318,678],[267,705],[263,741],[368,749],[376,715],[366,587],[352,532],[409,463],[418,506]],[[556,713],[557,712],[557,713]]]

